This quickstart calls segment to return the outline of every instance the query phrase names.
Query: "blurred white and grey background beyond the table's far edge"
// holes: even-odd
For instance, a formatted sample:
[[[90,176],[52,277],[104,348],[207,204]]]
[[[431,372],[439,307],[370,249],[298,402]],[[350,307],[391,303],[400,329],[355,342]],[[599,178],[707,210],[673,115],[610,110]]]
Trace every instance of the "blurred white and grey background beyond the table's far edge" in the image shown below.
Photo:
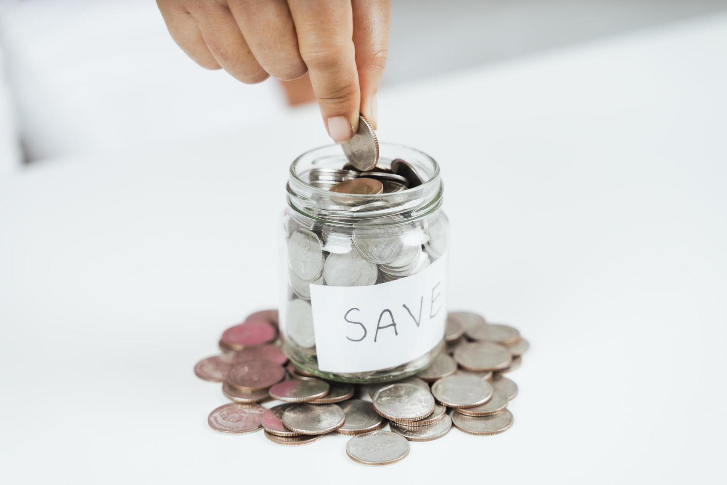
[[[382,89],[727,9],[727,0],[392,3]],[[294,109],[274,80],[250,87],[198,68],[151,0],[0,0],[0,174],[236,133]]]

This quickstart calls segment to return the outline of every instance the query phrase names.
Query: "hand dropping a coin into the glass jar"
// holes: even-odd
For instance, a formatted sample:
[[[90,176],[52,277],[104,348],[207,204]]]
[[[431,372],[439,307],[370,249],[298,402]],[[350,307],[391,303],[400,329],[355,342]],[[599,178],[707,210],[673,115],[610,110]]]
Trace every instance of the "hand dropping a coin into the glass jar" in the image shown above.
[[[329,135],[377,123],[390,0],[157,0],[172,39],[199,65],[247,84],[310,72]]]

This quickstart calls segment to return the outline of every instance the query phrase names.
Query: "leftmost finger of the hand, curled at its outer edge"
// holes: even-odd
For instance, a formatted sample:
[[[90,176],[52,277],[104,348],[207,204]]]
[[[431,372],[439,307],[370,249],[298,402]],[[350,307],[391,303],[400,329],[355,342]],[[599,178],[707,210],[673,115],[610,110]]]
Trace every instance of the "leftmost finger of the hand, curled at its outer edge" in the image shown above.
[[[182,50],[192,60],[206,69],[219,69],[220,64],[214,60],[212,52],[202,39],[197,23],[185,9],[177,7],[172,0],[156,0],[156,4],[164,18],[166,29]]]

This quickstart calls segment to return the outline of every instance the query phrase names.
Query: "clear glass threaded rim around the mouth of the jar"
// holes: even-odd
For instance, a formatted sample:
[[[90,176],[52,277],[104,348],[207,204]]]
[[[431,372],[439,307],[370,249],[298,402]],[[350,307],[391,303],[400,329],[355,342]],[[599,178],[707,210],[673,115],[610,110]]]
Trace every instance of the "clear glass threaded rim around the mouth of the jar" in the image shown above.
[[[441,206],[443,184],[439,164],[432,157],[394,143],[379,144],[379,153],[379,167],[388,168],[393,159],[403,159],[417,170],[424,182],[403,191],[379,194],[337,193],[316,187],[308,183],[310,169],[341,169],[348,161],[340,145],[324,145],[303,153],[291,164],[287,185],[289,206],[313,220],[355,227],[406,224]]]

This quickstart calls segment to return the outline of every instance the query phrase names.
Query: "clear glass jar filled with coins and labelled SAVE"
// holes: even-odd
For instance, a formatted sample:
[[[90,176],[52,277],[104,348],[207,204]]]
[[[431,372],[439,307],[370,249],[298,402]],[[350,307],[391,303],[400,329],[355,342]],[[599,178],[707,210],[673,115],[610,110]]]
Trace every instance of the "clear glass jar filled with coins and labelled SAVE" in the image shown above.
[[[318,176],[345,166],[339,145],[290,167],[281,339],[296,366],[329,380],[398,380],[444,348],[449,222],[439,167],[413,148],[382,143],[379,151],[375,170],[403,159],[422,183],[378,195],[329,191],[335,180],[326,177],[310,183],[312,169]]]

